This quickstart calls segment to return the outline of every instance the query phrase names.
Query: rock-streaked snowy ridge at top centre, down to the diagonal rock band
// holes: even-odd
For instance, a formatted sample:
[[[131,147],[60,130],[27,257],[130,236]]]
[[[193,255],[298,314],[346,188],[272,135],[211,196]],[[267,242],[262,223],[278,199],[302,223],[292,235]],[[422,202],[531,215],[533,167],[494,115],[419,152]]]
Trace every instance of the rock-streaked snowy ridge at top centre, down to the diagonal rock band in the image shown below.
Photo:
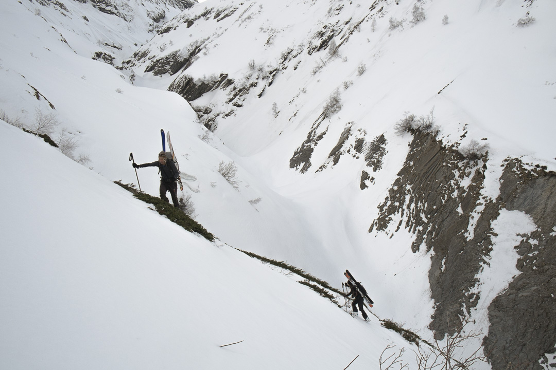
[[[334,44],[334,49],[339,48],[366,19],[383,16],[386,3],[384,0],[376,0],[366,12],[361,12],[363,9],[361,4],[357,9],[350,7],[350,11],[342,12],[344,4],[339,3],[327,8],[315,2],[303,2],[286,7],[264,2],[225,2],[224,4],[209,2],[202,10],[201,7],[193,8],[167,22],[158,31],[159,36],[137,50],[133,58],[125,64],[133,67],[136,73],[137,70],[144,68],[145,73],[171,75],[172,82],[168,90],[177,92],[190,102],[211,90],[221,89],[222,98],[212,100],[225,99],[224,104],[215,105],[211,101],[210,104],[203,105],[203,99],[193,103],[201,122],[214,131],[217,128],[217,119],[233,115],[237,108],[246,104],[251,91],[261,98],[265,89],[272,85],[279,73],[288,67],[297,69],[302,54],[312,55],[326,50],[330,42]],[[265,17],[274,13],[280,13],[281,17],[274,18],[272,22],[264,22]],[[311,14],[311,17],[322,21],[317,24],[300,22],[300,13]],[[356,17],[356,20],[352,21],[351,17]],[[276,21],[280,26],[273,23]],[[216,29],[214,33],[212,27]],[[230,31],[231,29],[233,31]],[[262,35],[256,36],[255,42],[249,41],[254,34],[260,33]],[[288,40],[290,35],[294,34],[307,35],[299,40]],[[336,36],[341,40],[339,45],[334,41]],[[230,37],[237,38],[237,42],[230,40]],[[192,41],[183,45],[175,43],[173,39],[192,39]],[[281,42],[279,43],[278,40]],[[230,44],[232,42],[233,47]],[[283,46],[289,42],[291,45]],[[225,43],[224,48],[221,47],[222,43]],[[262,55],[256,55],[259,54],[255,52],[257,46],[262,49]],[[233,49],[228,50],[229,47]],[[233,64],[214,66],[221,69],[212,69],[207,71],[209,73],[205,73],[203,68],[203,74],[197,76],[195,67],[203,63],[197,61],[206,60],[206,56],[213,49],[219,54],[230,52],[241,55],[246,52],[247,55],[252,54],[253,59],[246,60],[245,55],[233,59],[226,57],[221,62],[227,60]],[[336,53],[333,56],[338,55]],[[263,60],[259,60],[261,57]],[[325,59],[331,57],[332,55]],[[315,69],[322,68],[328,62],[322,60],[320,56],[314,59]],[[243,65],[237,65],[240,60],[246,61]],[[193,66],[195,62],[197,63]]]

